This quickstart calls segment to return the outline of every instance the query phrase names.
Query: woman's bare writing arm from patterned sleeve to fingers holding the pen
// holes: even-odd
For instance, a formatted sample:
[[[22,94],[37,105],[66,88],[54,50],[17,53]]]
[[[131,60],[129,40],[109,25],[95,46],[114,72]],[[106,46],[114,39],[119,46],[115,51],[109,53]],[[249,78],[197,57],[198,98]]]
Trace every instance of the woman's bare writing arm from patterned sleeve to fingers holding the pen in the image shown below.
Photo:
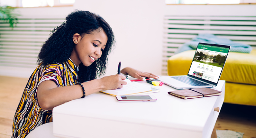
[[[101,79],[95,79],[82,83],[85,95],[101,90],[112,90],[122,88],[126,85],[126,77],[122,75],[106,76]],[[44,110],[52,110],[54,107],[65,102],[79,99],[83,96],[83,91],[80,85],[71,85],[57,87],[54,81],[46,80],[40,83],[37,90],[37,99],[40,107]]]

